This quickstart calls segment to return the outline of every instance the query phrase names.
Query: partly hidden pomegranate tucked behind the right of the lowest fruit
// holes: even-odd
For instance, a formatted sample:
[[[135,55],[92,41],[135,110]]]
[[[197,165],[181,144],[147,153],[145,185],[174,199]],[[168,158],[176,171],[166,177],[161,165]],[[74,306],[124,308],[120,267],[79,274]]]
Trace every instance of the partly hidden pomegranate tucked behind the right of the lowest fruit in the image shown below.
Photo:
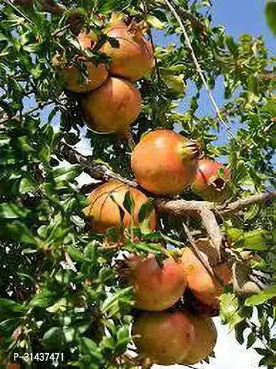
[[[190,348],[183,365],[199,363],[213,352],[217,343],[217,329],[215,323],[210,318],[188,315],[188,319],[193,324],[195,332],[195,345]]]

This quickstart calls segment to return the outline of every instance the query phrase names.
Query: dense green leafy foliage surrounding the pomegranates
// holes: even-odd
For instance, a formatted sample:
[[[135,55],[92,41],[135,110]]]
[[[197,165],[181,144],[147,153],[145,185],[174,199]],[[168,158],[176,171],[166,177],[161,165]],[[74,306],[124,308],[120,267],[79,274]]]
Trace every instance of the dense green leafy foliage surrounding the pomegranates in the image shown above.
[[[143,108],[133,126],[133,140],[138,142],[142,133],[157,126],[175,127],[198,140],[207,155],[228,162],[233,199],[275,185],[275,85],[268,77],[275,58],[268,55],[262,37],[241,35],[236,41],[223,27],[214,26],[210,1],[173,1],[208,86],[217,88],[219,80],[224,84],[221,116],[235,137],[221,140],[226,131],[213,115],[202,114],[201,78],[179,24],[163,1],[60,3],[68,10],[59,15],[44,12],[39,1],[32,6],[4,0],[0,5],[0,359],[13,352],[60,351],[69,367],[134,368],[137,364],[125,355],[131,341],[133,293],[114,267],[119,250],[106,249],[103,236],[89,231],[82,213],[86,198],[77,180],[83,169],[65,165],[58,150],[61,140],[72,146],[80,142],[83,120],[78,97],[63,92],[52,57],[61,53],[70,60],[84,53],[108,62],[100,45],[80,51],[68,26],[69,9],[78,9],[81,21],[98,35],[105,20],[96,15],[108,21],[111,11],[123,10],[164,35],[179,37],[177,44],[156,46],[156,70],[137,82]],[[175,107],[189,89],[193,96],[180,113]],[[124,178],[132,177],[126,140],[90,130],[86,138],[93,160],[105,162]],[[192,191],[182,197],[199,199]],[[255,205],[242,216],[221,221],[235,247],[253,250],[256,270],[275,272],[273,216],[271,207]],[[189,227],[203,231],[194,220]],[[184,238],[181,222],[172,216],[163,216],[159,229],[161,233],[151,234],[136,229],[140,241],[130,234],[120,252],[162,254],[160,243],[166,246],[168,239]],[[266,231],[264,238],[259,229]],[[276,360],[270,329],[276,313],[273,296],[275,288],[247,300],[232,291],[221,297],[222,320],[235,327],[241,343],[242,332],[250,330],[248,348],[262,341],[256,350],[268,368]]]

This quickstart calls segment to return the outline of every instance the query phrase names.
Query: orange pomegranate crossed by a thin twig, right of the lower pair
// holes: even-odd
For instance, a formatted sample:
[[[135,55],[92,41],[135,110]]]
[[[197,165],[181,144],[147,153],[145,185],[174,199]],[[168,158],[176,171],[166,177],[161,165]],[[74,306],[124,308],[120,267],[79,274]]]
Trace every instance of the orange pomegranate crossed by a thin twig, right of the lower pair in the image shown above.
[[[211,267],[212,256],[208,258],[208,249],[204,249],[204,243],[197,241],[197,247],[201,258]],[[230,267],[226,263],[221,263],[213,267],[213,274],[209,274],[201,261],[188,247],[184,248],[181,261],[187,285],[195,297],[210,308],[217,309],[218,298],[223,292],[224,285],[232,283]],[[215,275],[219,277],[219,281]]]

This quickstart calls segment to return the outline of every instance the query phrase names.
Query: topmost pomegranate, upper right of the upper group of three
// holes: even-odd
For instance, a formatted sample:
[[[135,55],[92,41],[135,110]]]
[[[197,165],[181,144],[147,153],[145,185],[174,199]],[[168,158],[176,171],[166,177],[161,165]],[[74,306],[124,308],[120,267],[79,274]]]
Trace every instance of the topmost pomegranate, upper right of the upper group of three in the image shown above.
[[[114,37],[119,47],[112,47],[108,41],[101,51],[111,57],[112,75],[135,81],[143,77],[155,65],[150,42],[144,37],[139,23],[126,26],[124,21],[115,21],[105,31]]]

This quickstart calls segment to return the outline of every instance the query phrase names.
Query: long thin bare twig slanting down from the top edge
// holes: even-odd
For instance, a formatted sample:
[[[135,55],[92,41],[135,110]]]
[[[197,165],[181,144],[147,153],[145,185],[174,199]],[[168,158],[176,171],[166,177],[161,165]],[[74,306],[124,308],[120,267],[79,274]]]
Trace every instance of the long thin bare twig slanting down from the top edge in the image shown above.
[[[190,49],[190,55],[191,55],[191,57],[192,57],[192,59],[194,61],[195,68],[197,69],[197,72],[199,73],[199,76],[201,77],[202,83],[204,84],[204,87],[206,88],[206,92],[208,93],[208,97],[210,99],[210,102],[213,104],[213,106],[215,108],[215,112],[217,114],[217,117],[219,118],[219,121],[225,127],[225,129],[229,133],[229,135],[232,138],[235,138],[235,135],[232,133],[232,131],[230,130],[230,128],[227,126],[227,124],[224,122],[223,118],[221,117],[221,113],[219,111],[219,107],[217,106],[217,102],[215,101],[215,98],[213,97],[213,94],[211,93],[210,88],[208,87],[208,84],[206,82],[206,78],[204,77],[204,73],[202,72],[201,67],[199,65],[199,62],[197,61],[197,57],[195,55],[195,51],[194,51],[193,46],[192,46],[192,44],[190,42],[190,38],[188,36],[188,33],[186,32],[186,28],[184,26],[184,23],[181,21],[181,18],[179,17],[177,11],[172,6],[172,4],[170,3],[170,1],[164,0],[164,3],[166,3],[166,5],[170,9],[170,11],[172,12],[172,15],[175,17],[175,19],[179,23],[179,26],[180,26],[180,28],[181,28],[181,30],[183,32],[183,35],[184,35],[186,44],[187,44],[188,48]]]

